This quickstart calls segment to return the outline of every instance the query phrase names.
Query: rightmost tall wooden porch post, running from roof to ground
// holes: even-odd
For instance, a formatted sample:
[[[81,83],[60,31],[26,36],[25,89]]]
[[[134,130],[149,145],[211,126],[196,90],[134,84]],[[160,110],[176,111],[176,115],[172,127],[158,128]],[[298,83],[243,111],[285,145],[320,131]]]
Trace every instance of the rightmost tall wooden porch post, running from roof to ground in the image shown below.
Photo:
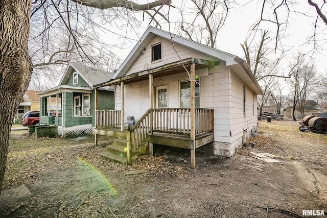
[[[193,63],[191,65],[191,139],[193,140],[193,149],[191,150],[191,168],[195,168],[195,122],[196,122],[196,117],[195,117],[195,63],[193,60]]]

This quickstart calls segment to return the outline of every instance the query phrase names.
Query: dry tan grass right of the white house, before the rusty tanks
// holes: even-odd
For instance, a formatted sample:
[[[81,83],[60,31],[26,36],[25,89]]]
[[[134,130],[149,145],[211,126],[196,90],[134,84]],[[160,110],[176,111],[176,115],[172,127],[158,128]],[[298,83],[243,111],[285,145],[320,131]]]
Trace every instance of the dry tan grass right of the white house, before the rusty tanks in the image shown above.
[[[290,120],[272,120],[271,123],[261,121],[258,126],[259,135],[254,137],[255,148],[278,148],[278,155],[292,160],[305,161],[315,169],[326,172],[327,169],[327,134],[311,131],[301,132],[298,123]],[[274,150],[274,149],[272,149]]]

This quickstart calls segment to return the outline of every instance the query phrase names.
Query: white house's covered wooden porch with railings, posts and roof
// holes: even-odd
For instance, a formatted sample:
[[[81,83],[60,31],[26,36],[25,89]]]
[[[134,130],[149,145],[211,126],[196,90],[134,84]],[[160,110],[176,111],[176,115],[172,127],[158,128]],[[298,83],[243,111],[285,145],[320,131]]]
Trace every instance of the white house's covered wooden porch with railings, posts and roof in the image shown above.
[[[112,135],[115,137],[117,131],[126,132],[128,164],[131,164],[133,154],[137,153],[139,146],[144,142],[148,142],[150,155],[153,155],[153,144],[190,149],[191,167],[195,168],[196,148],[214,140],[214,109],[198,107],[199,105],[195,100],[197,83],[195,71],[213,67],[217,64],[219,62],[188,58],[96,85],[96,88],[120,85],[121,110],[97,110],[96,91],[95,143],[97,144],[98,135]],[[170,108],[167,105],[161,105],[162,107],[158,108],[158,103],[155,101],[158,96],[155,95],[154,79],[176,74],[183,74],[190,82],[189,107]],[[137,118],[133,126],[128,126],[124,114],[126,111],[124,89],[125,85],[139,81],[148,81],[148,103],[143,103],[148,104],[149,109],[142,117]],[[177,93],[175,95],[175,98],[179,99],[179,95]],[[131,96],[127,98],[131,98]]]

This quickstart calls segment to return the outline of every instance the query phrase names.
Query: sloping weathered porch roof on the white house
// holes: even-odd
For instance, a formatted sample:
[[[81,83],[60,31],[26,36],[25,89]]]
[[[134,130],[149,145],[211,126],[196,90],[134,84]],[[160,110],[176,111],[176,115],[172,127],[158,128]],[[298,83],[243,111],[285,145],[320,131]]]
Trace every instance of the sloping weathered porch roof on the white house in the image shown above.
[[[146,80],[148,79],[149,74],[154,74],[154,78],[156,77],[162,77],[162,76],[169,76],[172,74],[176,74],[179,72],[185,72],[184,67],[189,67],[192,63],[195,63],[195,68],[196,69],[201,69],[205,67],[213,67],[216,65],[219,65],[219,61],[214,62],[214,61],[208,61],[208,60],[202,60],[198,58],[187,58],[181,61],[176,61],[173,63],[161,65],[158,67],[154,68],[149,68],[146,70],[142,70],[139,72],[135,72],[134,74],[128,75],[128,76],[123,76],[115,79],[111,79],[108,82],[100,83],[95,85],[95,88],[98,87],[103,87],[103,86],[109,86],[109,85],[118,85],[121,82],[125,83],[132,83],[136,81],[141,81],[141,80]]]

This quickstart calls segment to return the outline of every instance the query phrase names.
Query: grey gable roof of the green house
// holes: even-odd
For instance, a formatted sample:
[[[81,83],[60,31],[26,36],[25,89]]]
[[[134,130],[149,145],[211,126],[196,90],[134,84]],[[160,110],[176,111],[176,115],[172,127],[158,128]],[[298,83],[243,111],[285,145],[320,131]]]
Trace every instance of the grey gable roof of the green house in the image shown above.
[[[92,68],[90,66],[75,62],[69,62],[65,74],[61,78],[59,86],[66,85],[68,79],[72,76],[74,71],[76,71],[91,88],[94,88],[94,85],[96,84],[110,80],[114,76],[113,72]]]

